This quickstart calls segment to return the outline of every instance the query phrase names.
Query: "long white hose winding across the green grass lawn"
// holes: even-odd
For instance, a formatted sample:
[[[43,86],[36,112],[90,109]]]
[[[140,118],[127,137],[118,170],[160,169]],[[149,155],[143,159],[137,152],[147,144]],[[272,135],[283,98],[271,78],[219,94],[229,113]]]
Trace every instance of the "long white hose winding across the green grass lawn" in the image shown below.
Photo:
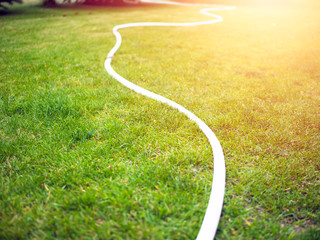
[[[120,76],[117,72],[113,70],[111,67],[111,61],[119,49],[121,45],[121,35],[118,32],[119,29],[129,28],[129,27],[142,27],[142,26],[198,26],[198,25],[205,25],[205,24],[212,24],[223,21],[223,18],[219,15],[215,15],[209,13],[208,11],[211,10],[231,10],[235,9],[235,7],[227,7],[222,5],[210,5],[210,4],[189,4],[189,3],[177,3],[177,2],[169,2],[169,1],[151,1],[151,0],[141,0],[141,2],[145,3],[157,3],[157,4],[171,4],[171,5],[183,5],[183,6],[211,6],[213,8],[205,8],[201,9],[200,13],[214,17],[214,19],[209,21],[202,21],[202,22],[190,22],[190,23],[160,23],[160,22],[141,22],[141,23],[128,23],[115,26],[113,28],[113,34],[116,36],[116,44],[108,53],[108,57],[105,60],[105,68],[107,72],[118,80],[120,83],[125,85],[127,88],[147,96],[149,98],[155,99],[159,102],[163,102],[168,104],[169,106],[178,109],[180,112],[187,115],[187,117],[196,122],[202,132],[208,138],[210,145],[212,147],[212,154],[214,158],[214,173],[213,173],[213,180],[212,180],[212,188],[209,198],[208,207],[202,221],[202,225],[200,231],[197,236],[197,240],[212,240],[215,236],[217,231],[217,227],[219,224],[219,219],[221,215],[222,205],[223,205],[223,198],[224,198],[224,189],[225,189],[225,178],[226,178],[226,170],[225,170],[225,162],[224,162],[224,155],[222,151],[222,147],[212,132],[212,130],[196,115],[192,112],[184,108],[183,106],[179,105],[178,103],[171,101],[163,96],[160,96],[156,93],[150,92],[142,87],[139,87],[132,82],[129,82],[127,79]]]

